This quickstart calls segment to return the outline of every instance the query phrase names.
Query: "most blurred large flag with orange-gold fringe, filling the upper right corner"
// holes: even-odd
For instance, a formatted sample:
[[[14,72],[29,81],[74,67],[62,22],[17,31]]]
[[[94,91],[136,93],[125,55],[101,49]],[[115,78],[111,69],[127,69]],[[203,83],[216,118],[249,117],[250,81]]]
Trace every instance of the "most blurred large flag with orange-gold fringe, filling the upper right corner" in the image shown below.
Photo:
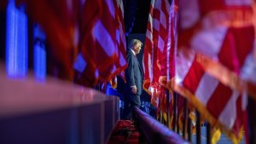
[[[252,59],[255,51],[255,4],[253,0],[215,2],[189,2],[191,6],[184,8],[187,12],[181,14],[183,36],[180,43],[186,43],[201,53],[202,63],[209,63],[204,65],[206,71],[223,84],[241,92],[247,90],[256,98],[253,90],[256,80],[252,79],[256,73],[253,70],[255,58]],[[189,14],[191,11],[194,13]],[[188,16],[191,18],[187,19]]]

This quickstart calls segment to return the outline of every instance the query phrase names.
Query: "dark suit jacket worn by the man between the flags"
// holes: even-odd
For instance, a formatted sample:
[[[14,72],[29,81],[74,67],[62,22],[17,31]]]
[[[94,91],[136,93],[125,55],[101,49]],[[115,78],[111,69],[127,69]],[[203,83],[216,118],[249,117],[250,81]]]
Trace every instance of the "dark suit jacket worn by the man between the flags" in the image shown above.
[[[131,86],[136,85],[137,95],[141,95],[143,90],[143,71],[131,49],[127,50],[126,60],[128,67],[125,69],[125,79],[129,92],[131,92]]]

